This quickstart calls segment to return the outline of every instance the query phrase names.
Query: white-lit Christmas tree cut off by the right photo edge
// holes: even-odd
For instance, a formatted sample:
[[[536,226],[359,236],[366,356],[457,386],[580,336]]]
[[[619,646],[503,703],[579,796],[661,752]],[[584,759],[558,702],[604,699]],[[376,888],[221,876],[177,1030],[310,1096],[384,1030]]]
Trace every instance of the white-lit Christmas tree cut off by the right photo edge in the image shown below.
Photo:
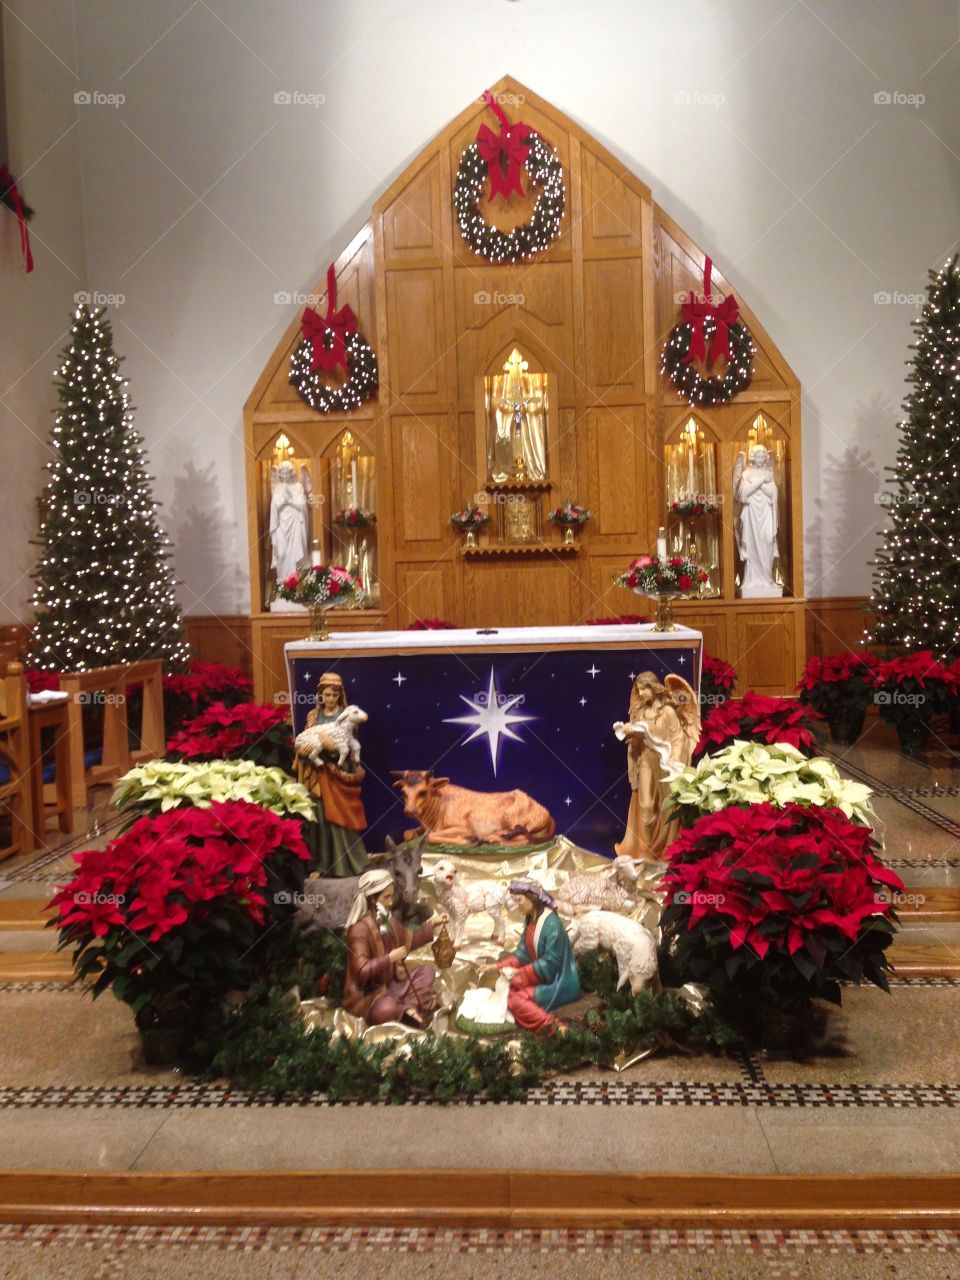
[[[960,657],[960,255],[931,271],[914,321],[906,419],[877,553],[873,644]]]

